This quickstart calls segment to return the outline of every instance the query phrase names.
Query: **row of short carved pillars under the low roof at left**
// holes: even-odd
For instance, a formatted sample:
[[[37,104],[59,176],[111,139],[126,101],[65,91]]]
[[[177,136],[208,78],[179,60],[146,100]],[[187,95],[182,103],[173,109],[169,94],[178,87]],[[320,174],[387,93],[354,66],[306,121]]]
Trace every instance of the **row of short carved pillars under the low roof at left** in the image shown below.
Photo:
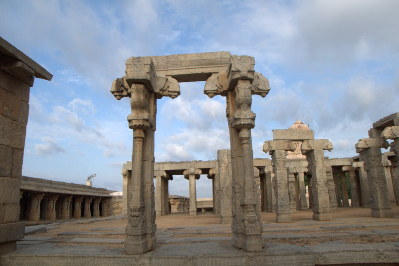
[[[100,217],[100,215],[105,217],[110,215],[111,209],[109,207],[109,199],[105,197],[63,195],[23,190],[20,191],[20,214],[22,215],[22,219],[36,222],[40,219],[50,221],[55,221],[56,218],[62,220],[71,218],[80,219],[82,216],[82,202],[84,204],[84,218]],[[92,202],[93,213],[90,208]]]

